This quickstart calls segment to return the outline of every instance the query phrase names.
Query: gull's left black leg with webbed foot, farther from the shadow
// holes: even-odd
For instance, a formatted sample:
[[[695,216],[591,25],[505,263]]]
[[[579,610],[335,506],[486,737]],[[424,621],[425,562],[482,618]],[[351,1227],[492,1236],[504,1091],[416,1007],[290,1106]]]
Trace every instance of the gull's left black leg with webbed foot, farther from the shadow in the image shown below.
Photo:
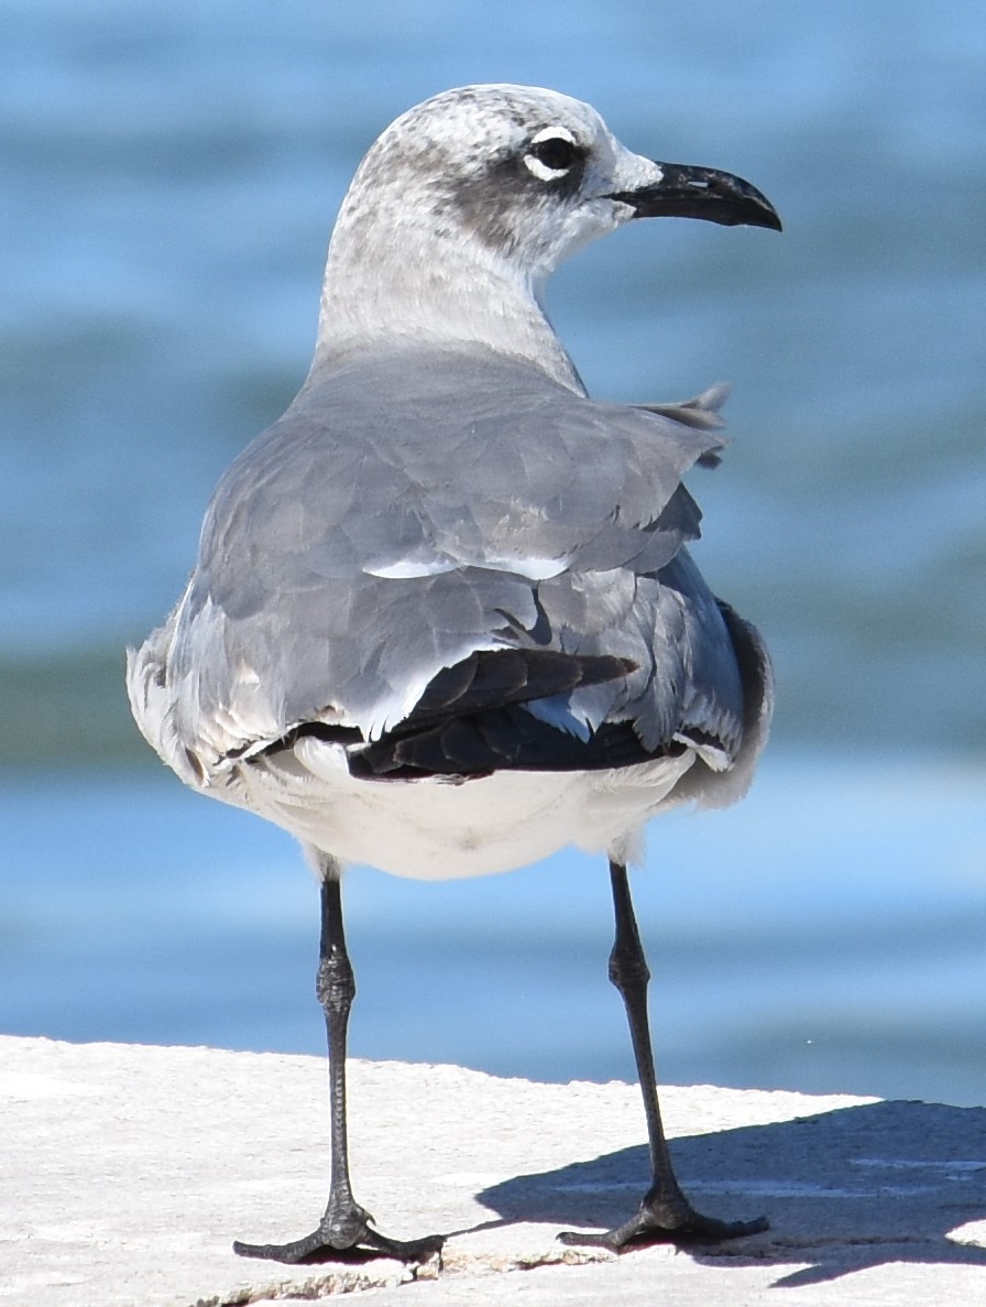
[[[316,982],[319,1002],[325,1012],[329,1036],[329,1121],[332,1131],[332,1183],[329,1202],[319,1229],[291,1243],[234,1243],[242,1257],[273,1261],[367,1261],[396,1257],[424,1261],[441,1252],[441,1235],[426,1239],[389,1239],[372,1229],[374,1218],[353,1197],[349,1180],[346,1137],[346,1029],[357,992],[353,967],[342,929],[342,894],[337,876],[326,874],[321,884],[321,944]]]

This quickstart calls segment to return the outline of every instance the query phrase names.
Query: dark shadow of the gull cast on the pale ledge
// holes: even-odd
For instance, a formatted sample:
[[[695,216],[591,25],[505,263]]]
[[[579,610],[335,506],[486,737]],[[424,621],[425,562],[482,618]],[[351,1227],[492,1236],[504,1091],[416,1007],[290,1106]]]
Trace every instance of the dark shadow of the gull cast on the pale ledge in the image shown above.
[[[787,1287],[884,1263],[986,1266],[986,1248],[962,1243],[959,1230],[986,1218],[986,1108],[871,1103],[676,1138],[671,1151],[699,1210],[771,1221],[761,1235],[690,1246],[697,1261],[791,1265],[774,1281]],[[648,1183],[641,1146],[515,1176],[477,1197],[504,1223],[607,1229],[636,1209]]]

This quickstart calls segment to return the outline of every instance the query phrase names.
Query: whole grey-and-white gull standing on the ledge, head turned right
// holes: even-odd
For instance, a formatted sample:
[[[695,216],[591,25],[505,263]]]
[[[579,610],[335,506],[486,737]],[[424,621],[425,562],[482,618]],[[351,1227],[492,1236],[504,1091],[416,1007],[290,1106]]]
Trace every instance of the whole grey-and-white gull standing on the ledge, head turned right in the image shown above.
[[[596,403],[541,307],[564,257],[661,214],[781,226],[750,183],[633,154],[550,90],[466,86],[398,118],[343,201],[299,395],[223,476],[178,608],[128,654],[165,762],[295,835],[321,882],[329,1201],[311,1235],[243,1255],[440,1253],[381,1234],[350,1187],[343,865],[443,880],[567,844],[609,857],[653,1179],[624,1225],[563,1238],[767,1227],[701,1216],[675,1179],[626,870],[654,813],[744,792],[771,719],[763,642],[686,548],[680,478],[718,459],[724,391]]]

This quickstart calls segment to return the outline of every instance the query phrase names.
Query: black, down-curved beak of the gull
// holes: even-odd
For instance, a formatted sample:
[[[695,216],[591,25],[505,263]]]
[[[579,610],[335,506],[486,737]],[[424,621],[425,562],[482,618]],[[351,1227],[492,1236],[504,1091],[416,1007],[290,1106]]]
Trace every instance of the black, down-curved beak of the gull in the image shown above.
[[[687,163],[657,166],[663,178],[656,186],[620,191],[610,199],[631,205],[635,218],[705,218],[727,227],[781,230],[774,207],[742,176]]]

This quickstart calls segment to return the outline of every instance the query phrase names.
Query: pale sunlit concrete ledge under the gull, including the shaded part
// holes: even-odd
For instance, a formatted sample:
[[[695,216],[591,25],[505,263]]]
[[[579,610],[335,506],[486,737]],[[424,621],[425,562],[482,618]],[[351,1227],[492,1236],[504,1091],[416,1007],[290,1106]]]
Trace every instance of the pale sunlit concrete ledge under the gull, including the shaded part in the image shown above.
[[[354,1187],[388,1234],[454,1231],[445,1270],[293,1270],[232,1238],[295,1238],[326,1192],[320,1059],[0,1038],[0,1303],[986,1302],[986,1108],[667,1087],[680,1178],[769,1234],[700,1253],[565,1248],[646,1180],[635,1086],[535,1085],[355,1061]],[[526,1274],[517,1274],[524,1270]]]

